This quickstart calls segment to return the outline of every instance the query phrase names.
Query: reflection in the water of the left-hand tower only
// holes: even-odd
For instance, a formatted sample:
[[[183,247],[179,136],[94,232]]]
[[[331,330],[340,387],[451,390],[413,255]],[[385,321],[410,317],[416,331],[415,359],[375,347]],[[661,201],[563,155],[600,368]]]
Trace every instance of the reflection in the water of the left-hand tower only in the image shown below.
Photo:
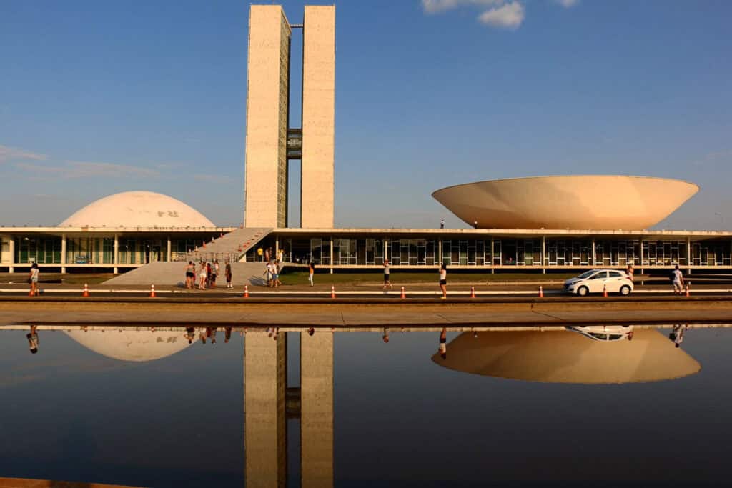
[[[244,338],[244,481],[247,488],[284,487],[287,476],[287,334]]]

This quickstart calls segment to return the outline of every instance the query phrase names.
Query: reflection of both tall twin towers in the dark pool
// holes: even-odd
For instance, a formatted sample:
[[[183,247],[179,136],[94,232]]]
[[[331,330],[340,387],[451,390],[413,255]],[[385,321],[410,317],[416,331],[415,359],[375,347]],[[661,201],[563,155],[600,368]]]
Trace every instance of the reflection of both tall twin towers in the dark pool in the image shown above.
[[[244,339],[244,457],[247,487],[281,487],[287,478],[287,334]],[[302,487],[333,484],[333,334],[301,334]]]

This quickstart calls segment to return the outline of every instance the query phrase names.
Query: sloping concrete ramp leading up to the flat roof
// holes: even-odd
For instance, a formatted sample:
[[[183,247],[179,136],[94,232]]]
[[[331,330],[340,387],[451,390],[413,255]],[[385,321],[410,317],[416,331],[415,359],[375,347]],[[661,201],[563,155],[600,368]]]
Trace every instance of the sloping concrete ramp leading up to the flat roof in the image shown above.
[[[212,262],[218,260],[220,274],[217,279],[219,285],[225,285],[224,269],[226,263],[231,263],[232,282],[234,285],[255,285],[264,280],[263,263],[240,263],[239,260],[252,247],[264,239],[272,229],[266,228],[239,228],[219,239],[206,243],[206,247],[198,247],[195,251],[179,255],[176,260],[165,263],[157,261],[140,266],[127,273],[120,274],[104,282],[105,285],[156,285],[175,286],[185,280],[185,266],[188,261],[198,263],[202,260]]]

